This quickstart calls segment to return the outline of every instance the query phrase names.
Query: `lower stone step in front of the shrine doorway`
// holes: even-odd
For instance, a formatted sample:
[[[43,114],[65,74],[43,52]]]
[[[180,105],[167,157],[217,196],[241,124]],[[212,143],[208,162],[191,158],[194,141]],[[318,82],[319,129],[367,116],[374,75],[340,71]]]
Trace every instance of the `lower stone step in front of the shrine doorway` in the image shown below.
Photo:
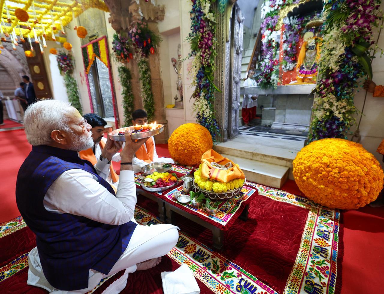
[[[248,181],[280,189],[288,178],[289,168],[257,160],[249,160],[228,154],[222,154],[243,170]]]

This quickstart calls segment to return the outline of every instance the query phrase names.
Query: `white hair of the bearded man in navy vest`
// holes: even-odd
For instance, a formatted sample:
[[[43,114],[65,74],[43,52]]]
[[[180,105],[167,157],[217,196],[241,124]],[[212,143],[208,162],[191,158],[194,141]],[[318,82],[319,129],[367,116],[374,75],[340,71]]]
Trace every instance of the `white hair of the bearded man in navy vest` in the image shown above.
[[[47,145],[53,142],[53,130],[70,131],[68,113],[71,103],[58,100],[41,100],[28,106],[24,113],[24,130],[29,144]]]

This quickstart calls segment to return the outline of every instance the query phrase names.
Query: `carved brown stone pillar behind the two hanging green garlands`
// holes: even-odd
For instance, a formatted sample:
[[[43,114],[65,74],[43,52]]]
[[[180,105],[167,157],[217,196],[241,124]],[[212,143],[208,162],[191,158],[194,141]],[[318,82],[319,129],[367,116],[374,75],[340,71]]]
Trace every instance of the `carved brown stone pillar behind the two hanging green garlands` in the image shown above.
[[[108,6],[111,16],[109,23],[117,33],[124,33],[128,31],[131,21],[143,20],[148,23],[148,27],[159,34],[157,26],[158,21],[164,20],[164,6],[154,5],[152,1],[146,2],[145,0],[104,0]],[[164,91],[163,82],[161,79],[160,57],[157,52],[159,48],[155,49],[155,54],[148,56],[149,68],[151,69],[151,83],[152,93],[154,96],[155,120],[159,124],[164,125],[164,131],[156,136],[157,143],[166,143],[168,141],[168,123],[164,109]],[[136,60],[132,60],[126,66],[132,72],[132,91],[134,95],[134,107],[143,108],[139,71],[137,68]]]

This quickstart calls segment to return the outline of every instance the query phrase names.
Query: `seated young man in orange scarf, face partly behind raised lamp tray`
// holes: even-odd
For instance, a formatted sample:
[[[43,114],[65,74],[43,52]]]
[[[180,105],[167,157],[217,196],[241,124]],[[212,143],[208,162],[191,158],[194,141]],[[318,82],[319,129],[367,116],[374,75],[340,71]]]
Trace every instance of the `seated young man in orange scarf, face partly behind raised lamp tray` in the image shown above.
[[[147,113],[142,109],[137,109],[132,113],[132,124],[136,126],[147,124]],[[161,157],[159,158],[156,153],[156,145],[154,137],[150,137],[140,149],[137,150],[135,157],[132,160],[133,170],[135,173],[141,170],[141,167],[152,162],[168,162],[174,163],[172,158]]]

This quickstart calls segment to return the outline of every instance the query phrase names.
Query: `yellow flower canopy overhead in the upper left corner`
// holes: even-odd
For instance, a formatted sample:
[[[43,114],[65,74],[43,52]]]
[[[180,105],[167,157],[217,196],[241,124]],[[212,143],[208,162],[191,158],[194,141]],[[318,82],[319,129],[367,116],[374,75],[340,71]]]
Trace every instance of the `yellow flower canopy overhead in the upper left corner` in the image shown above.
[[[88,8],[109,11],[102,0],[0,0],[1,39],[56,41],[55,34],[65,34],[64,26]]]

